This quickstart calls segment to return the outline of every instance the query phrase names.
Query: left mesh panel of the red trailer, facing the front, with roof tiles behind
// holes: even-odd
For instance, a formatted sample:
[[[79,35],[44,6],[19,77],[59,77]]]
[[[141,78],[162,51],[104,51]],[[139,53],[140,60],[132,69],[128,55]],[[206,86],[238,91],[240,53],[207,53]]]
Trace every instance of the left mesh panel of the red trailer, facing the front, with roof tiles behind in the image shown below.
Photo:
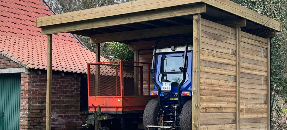
[[[90,65],[90,96],[121,96],[120,63]]]

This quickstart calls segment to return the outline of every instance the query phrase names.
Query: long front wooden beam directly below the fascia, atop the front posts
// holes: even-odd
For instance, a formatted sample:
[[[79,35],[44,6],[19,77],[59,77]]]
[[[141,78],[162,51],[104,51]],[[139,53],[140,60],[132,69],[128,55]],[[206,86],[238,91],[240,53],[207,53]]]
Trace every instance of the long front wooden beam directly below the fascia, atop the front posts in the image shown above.
[[[184,15],[192,15],[198,13],[205,13],[206,6],[204,3],[191,5],[187,7],[176,7],[162,10],[155,10],[150,12],[132,13],[127,15],[104,17],[96,20],[82,21],[74,24],[59,24],[55,27],[42,27],[42,35],[72,32],[86,29],[95,29],[100,27],[109,27],[115,25],[123,25],[129,23],[138,23],[143,21],[152,21],[157,19],[165,19],[171,17],[179,17]]]

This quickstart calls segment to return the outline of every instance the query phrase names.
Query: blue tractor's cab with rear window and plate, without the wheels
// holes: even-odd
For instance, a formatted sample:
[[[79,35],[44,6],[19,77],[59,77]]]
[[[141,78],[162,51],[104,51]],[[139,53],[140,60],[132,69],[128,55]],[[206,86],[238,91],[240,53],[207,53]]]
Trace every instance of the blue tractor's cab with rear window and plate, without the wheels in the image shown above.
[[[187,68],[192,67],[191,49],[192,47],[189,47],[190,51],[187,52],[187,62],[186,62]],[[178,103],[177,90],[179,88],[179,85],[181,84],[181,81],[183,81],[183,73],[179,68],[183,67],[184,63],[184,57],[183,57],[184,47],[178,47],[177,50],[181,51],[174,51],[174,52],[165,51],[161,53],[156,53],[157,60],[156,60],[156,72],[154,78],[156,80],[156,83],[161,85],[160,86],[161,93],[159,94],[166,101],[163,103],[163,105],[165,105],[166,103]],[[186,69],[185,80],[183,82],[183,85],[181,86],[180,95],[183,95],[182,93],[184,93],[184,96],[189,97],[191,96],[191,76],[192,76],[191,69]],[[154,91],[158,91],[156,85],[154,85]],[[150,95],[152,95],[152,92]],[[184,99],[189,99],[189,97],[184,97]],[[182,101],[182,103],[184,104],[185,101]]]

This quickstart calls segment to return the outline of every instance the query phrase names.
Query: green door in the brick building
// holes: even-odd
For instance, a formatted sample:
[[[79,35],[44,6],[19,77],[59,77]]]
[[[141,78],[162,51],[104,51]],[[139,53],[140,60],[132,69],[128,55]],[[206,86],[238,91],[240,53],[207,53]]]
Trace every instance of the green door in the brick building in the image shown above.
[[[0,130],[20,129],[20,74],[0,75]]]

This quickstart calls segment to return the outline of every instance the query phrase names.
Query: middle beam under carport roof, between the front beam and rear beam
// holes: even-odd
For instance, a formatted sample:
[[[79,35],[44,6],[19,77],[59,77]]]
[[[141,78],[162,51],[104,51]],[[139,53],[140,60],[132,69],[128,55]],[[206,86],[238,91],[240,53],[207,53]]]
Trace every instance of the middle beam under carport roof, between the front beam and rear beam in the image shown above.
[[[192,33],[193,31],[192,27],[193,25],[183,25],[183,26],[163,27],[155,29],[125,31],[117,33],[104,33],[104,34],[92,35],[91,39],[93,43],[103,43],[110,41],[126,41],[133,39],[169,36],[184,33]]]

